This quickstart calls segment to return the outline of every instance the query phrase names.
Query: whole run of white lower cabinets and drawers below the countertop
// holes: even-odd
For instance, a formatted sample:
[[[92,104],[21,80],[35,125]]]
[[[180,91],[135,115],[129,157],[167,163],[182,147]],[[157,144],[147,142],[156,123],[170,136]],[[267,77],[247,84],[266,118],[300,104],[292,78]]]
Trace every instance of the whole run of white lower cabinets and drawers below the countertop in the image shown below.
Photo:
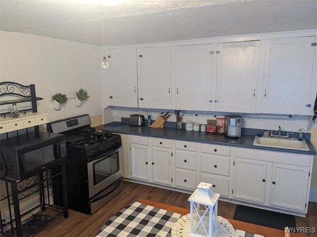
[[[132,179],[189,192],[206,182],[229,201],[307,213],[314,156],[134,135],[126,143],[129,137]]]

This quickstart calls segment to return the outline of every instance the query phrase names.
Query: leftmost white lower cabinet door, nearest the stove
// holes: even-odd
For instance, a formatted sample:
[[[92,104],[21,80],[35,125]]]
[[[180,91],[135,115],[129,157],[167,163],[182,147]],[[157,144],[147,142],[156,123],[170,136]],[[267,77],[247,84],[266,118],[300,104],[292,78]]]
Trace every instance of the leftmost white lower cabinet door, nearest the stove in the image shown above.
[[[131,177],[149,181],[149,148],[131,144]]]

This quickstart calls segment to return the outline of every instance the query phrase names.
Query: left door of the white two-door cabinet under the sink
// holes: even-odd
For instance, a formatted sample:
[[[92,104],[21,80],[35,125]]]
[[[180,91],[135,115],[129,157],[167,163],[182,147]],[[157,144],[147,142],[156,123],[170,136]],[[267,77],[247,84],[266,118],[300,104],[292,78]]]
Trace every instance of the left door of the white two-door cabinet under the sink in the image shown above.
[[[264,203],[267,163],[235,158],[233,198]]]

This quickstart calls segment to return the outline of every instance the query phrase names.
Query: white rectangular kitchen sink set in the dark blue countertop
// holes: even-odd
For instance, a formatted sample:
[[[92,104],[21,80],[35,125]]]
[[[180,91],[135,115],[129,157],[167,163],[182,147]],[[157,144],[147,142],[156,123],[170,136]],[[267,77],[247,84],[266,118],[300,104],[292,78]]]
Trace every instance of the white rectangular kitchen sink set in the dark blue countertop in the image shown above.
[[[297,138],[255,136],[253,145],[309,151],[306,141],[299,141]]]

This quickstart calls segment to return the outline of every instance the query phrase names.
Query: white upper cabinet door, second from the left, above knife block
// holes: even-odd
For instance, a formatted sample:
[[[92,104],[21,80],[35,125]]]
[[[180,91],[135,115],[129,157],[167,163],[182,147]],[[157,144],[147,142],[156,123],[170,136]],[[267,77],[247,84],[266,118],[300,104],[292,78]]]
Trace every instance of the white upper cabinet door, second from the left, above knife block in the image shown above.
[[[172,108],[171,47],[138,48],[139,107]]]

